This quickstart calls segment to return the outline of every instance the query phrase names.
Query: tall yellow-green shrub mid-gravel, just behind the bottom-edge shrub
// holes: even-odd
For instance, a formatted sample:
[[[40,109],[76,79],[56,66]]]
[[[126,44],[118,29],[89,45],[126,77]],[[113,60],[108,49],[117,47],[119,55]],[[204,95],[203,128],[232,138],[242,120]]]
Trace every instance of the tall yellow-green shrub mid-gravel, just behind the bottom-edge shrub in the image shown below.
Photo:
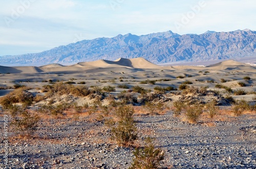
[[[131,146],[137,138],[133,114],[134,109],[131,106],[119,106],[114,112],[117,122],[111,128],[111,139],[115,140],[119,145]]]

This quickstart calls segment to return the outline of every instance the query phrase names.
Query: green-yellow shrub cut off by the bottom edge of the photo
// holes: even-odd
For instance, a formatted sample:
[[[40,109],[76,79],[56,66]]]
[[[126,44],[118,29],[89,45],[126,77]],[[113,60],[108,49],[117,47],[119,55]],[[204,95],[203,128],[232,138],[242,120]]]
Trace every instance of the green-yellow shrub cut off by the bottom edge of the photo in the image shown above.
[[[132,166],[129,169],[153,169],[159,168],[160,161],[164,159],[164,152],[160,148],[155,148],[152,139],[146,138],[146,146],[143,149],[136,148],[134,151]]]

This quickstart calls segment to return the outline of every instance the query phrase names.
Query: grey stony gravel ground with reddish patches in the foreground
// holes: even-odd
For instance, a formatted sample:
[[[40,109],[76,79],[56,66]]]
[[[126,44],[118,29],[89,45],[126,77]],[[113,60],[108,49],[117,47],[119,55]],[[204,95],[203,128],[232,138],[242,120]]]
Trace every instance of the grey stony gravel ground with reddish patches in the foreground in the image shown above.
[[[221,107],[214,120],[204,117],[198,124],[188,124],[172,111],[136,114],[139,137],[135,147],[143,146],[145,137],[154,137],[156,147],[165,152],[162,168],[256,168],[256,114],[234,117],[224,114],[228,108]],[[128,168],[134,148],[117,146],[104,121],[95,119],[93,114],[41,120],[30,138],[19,138],[10,128],[8,163],[4,161],[5,139],[1,139],[0,167]]]

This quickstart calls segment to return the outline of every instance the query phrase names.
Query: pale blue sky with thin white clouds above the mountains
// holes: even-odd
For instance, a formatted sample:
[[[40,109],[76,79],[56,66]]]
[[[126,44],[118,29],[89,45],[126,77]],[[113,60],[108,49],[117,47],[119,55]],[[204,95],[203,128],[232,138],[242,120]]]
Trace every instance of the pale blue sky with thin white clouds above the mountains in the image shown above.
[[[255,0],[1,0],[0,56],[127,33],[256,31],[255,16]]]

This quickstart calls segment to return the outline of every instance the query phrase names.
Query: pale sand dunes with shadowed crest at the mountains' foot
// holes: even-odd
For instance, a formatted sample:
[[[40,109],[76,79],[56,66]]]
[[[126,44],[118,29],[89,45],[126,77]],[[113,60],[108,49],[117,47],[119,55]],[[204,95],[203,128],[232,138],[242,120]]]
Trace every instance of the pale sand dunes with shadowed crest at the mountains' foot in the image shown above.
[[[93,62],[82,62],[75,65],[63,66],[60,64],[50,64],[40,67],[5,67],[0,66],[0,73],[41,73],[41,72],[55,72],[55,73],[86,73],[86,72],[136,72],[144,71],[146,69],[166,69],[179,70],[191,72],[196,70],[246,70],[255,71],[255,66],[246,65],[233,60],[220,62],[206,67],[197,66],[165,66],[161,67],[155,65],[143,58],[124,59],[119,58],[116,61],[98,60]]]

